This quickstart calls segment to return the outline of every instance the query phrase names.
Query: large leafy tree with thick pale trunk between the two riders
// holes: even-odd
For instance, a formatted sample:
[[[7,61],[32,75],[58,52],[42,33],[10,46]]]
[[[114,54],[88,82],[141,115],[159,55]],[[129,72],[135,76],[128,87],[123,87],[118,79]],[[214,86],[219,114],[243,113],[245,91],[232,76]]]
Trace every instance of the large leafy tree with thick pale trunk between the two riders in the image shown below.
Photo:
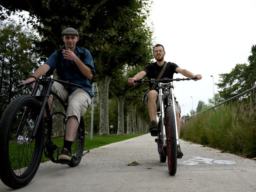
[[[108,88],[114,72],[126,63],[136,64],[148,58],[149,53],[145,50],[152,32],[145,25],[144,2],[116,1],[115,6],[106,2],[90,20],[90,29],[94,30],[86,34],[86,44],[97,45],[90,48],[96,58],[101,90],[100,134],[109,134]]]

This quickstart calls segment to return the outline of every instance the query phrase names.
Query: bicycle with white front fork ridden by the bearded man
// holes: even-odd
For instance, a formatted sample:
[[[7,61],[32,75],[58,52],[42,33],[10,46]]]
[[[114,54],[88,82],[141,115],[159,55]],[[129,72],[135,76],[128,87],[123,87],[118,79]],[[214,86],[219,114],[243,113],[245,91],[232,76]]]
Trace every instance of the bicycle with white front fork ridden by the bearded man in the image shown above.
[[[177,170],[177,146],[179,145],[178,128],[176,124],[175,97],[173,81],[194,80],[192,78],[176,79],[139,79],[135,83],[154,83],[158,82],[158,96],[160,100],[160,111],[157,115],[160,119],[158,122],[158,138],[155,139],[158,146],[160,162],[168,160],[168,172],[175,175]],[[169,99],[169,101],[168,101]]]

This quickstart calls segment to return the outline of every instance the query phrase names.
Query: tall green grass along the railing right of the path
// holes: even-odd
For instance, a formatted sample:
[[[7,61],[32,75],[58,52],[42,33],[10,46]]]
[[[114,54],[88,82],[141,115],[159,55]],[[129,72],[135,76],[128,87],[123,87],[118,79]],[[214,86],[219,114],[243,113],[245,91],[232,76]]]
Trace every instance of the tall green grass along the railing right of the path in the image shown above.
[[[256,157],[256,105],[223,104],[182,124],[180,138],[249,158]]]

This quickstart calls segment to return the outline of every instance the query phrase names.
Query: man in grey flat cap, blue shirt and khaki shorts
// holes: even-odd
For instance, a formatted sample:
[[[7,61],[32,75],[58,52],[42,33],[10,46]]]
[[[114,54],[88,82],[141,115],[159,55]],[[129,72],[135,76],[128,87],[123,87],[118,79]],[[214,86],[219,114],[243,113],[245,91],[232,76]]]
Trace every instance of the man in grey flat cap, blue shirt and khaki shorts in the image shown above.
[[[68,103],[66,112],[66,134],[64,139],[64,147],[60,153],[60,162],[68,163],[71,156],[71,146],[74,141],[76,131],[79,126],[80,116],[83,116],[92,103],[92,87],[90,79],[95,74],[92,55],[90,52],[76,45],[78,42],[78,31],[74,28],[66,28],[62,31],[62,40],[64,46],[61,50],[55,51],[34,74],[25,80],[22,84],[40,78],[46,72],[56,73],[60,80],[74,82],[82,86],[82,88],[69,87],[65,88],[62,84],[54,82],[52,90],[60,96],[60,98]],[[52,98],[48,99],[49,106],[52,106]]]

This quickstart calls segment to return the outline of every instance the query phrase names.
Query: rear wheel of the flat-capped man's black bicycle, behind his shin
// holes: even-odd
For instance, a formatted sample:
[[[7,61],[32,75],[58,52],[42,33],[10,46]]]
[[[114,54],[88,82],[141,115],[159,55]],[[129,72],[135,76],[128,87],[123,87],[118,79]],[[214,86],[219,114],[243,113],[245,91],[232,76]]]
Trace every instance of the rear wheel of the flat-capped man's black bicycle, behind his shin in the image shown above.
[[[82,154],[84,152],[84,141],[85,141],[85,131],[84,131],[84,117],[80,117],[80,123],[78,130],[76,132],[76,136],[74,139],[74,142],[72,144],[72,157],[77,157],[77,158],[72,158],[69,162],[70,167],[76,167],[79,165],[80,161],[82,160]]]

